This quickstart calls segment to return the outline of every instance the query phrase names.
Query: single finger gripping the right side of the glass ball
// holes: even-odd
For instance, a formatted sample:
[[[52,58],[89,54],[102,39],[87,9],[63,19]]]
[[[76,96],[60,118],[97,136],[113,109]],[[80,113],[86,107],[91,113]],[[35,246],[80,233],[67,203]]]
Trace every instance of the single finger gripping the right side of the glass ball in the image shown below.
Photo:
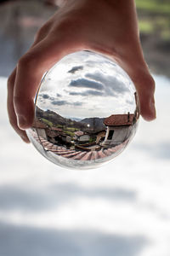
[[[125,48],[126,49],[126,48]],[[156,119],[155,108],[155,81],[144,61],[139,42],[134,42],[133,47],[123,53],[117,61],[133,80],[139,96],[140,114],[146,121]]]

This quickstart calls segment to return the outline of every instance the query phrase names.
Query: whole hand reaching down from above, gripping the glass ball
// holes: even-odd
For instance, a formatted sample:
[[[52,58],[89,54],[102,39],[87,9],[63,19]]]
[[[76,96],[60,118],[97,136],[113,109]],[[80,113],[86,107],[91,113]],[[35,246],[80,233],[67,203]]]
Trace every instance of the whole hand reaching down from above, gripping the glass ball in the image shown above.
[[[26,143],[43,73],[65,55],[84,49],[115,60],[135,84],[142,117],[156,119],[155,82],[144,61],[134,1],[65,0],[8,78],[9,122]]]

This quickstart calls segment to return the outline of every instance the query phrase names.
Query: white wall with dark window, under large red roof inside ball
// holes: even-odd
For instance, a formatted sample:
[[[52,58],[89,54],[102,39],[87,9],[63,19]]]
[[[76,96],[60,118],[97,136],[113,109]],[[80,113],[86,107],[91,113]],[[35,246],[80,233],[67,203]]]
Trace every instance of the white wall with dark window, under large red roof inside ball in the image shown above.
[[[114,131],[112,138],[109,140],[109,132]],[[131,134],[132,125],[130,126],[107,126],[107,131],[105,135],[105,141],[102,145],[119,145],[123,143]]]

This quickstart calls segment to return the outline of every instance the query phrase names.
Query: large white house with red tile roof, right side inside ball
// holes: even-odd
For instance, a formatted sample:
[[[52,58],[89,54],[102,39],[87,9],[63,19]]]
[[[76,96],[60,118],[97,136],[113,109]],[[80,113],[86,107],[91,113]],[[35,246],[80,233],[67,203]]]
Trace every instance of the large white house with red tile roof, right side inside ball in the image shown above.
[[[127,140],[133,130],[135,117],[133,113],[112,114],[105,118],[104,125],[107,126],[103,146],[116,146]]]

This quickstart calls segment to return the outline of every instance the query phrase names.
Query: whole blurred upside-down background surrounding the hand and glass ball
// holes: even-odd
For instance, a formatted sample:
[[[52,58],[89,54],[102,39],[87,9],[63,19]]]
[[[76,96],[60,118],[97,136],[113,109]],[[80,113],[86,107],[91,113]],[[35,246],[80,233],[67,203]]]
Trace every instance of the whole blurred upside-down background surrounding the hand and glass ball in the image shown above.
[[[112,163],[71,171],[8,124],[6,84],[59,1],[0,1],[0,255],[170,255],[170,2],[136,0],[157,119]]]

